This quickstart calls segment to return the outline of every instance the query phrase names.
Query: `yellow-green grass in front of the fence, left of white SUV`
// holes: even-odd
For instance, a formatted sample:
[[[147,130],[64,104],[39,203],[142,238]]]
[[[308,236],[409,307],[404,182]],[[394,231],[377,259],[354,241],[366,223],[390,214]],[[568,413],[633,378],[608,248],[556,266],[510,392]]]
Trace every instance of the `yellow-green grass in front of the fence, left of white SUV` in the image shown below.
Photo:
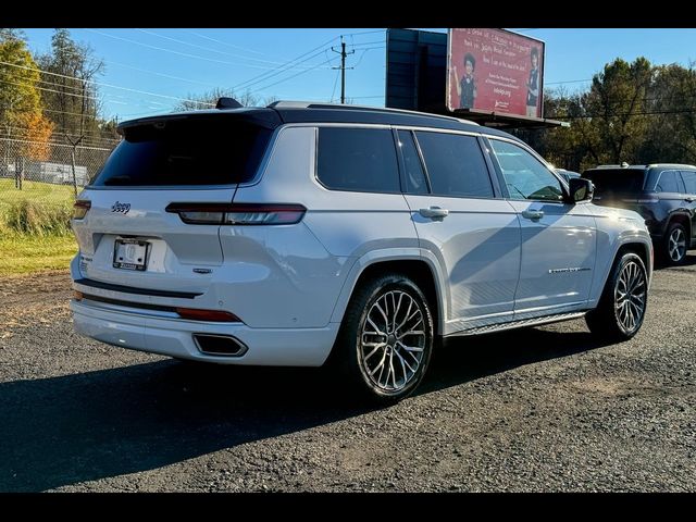
[[[67,270],[77,252],[69,219],[75,200],[70,185],[0,179],[0,276]]]

